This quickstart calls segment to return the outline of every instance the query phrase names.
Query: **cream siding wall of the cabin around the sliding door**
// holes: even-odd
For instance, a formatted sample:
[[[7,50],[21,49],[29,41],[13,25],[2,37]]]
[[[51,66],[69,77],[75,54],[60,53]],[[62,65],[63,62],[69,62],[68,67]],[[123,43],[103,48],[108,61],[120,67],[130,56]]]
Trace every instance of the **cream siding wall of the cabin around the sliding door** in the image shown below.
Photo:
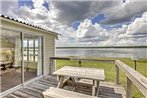
[[[43,75],[47,75],[49,73],[49,58],[51,56],[55,56],[55,39],[57,38],[56,34],[5,19],[1,20],[0,28],[43,37]]]

